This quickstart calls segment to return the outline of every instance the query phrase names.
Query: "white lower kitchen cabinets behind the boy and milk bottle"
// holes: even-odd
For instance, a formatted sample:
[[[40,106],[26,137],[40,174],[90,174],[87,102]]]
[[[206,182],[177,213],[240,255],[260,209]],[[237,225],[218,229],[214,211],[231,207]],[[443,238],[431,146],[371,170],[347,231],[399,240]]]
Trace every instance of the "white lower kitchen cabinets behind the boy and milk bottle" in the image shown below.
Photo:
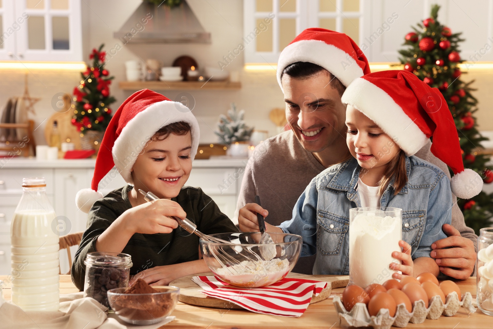
[[[10,222],[22,195],[22,179],[44,177],[46,194],[55,209],[61,235],[84,231],[87,214],[77,210],[75,194],[91,186],[95,159],[36,161],[4,158],[0,161],[0,275],[10,273]],[[199,186],[229,218],[235,218],[246,160],[195,160],[186,183]],[[98,189],[106,195],[126,183],[113,168]],[[234,219],[237,223],[237,219]],[[71,249],[72,256],[76,247]],[[62,272],[69,269],[67,252],[60,252]]]

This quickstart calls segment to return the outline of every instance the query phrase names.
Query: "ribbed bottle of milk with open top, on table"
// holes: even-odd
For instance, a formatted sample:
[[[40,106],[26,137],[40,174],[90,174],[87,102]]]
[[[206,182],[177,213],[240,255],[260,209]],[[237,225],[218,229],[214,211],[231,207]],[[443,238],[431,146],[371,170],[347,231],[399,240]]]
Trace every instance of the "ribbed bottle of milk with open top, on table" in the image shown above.
[[[22,197],[10,226],[12,302],[24,311],[58,311],[59,236],[44,178],[22,180]]]

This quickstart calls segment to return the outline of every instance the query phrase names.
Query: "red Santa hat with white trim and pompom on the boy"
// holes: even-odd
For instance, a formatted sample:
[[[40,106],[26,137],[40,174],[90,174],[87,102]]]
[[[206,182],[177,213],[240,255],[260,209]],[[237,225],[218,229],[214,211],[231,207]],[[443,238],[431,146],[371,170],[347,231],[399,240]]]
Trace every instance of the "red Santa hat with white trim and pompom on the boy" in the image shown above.
[[[134,184],[131,169],[147,142],[162,127],[184,121],[191,127],[192,160],[199,146],[199,123],[183,104],[149,89],[142,89],[123,102],[109,121],[96,158],[91,188],[77,192],[77,208],[88,213],[103,194],[99,182],[116,166],[125,182]]]

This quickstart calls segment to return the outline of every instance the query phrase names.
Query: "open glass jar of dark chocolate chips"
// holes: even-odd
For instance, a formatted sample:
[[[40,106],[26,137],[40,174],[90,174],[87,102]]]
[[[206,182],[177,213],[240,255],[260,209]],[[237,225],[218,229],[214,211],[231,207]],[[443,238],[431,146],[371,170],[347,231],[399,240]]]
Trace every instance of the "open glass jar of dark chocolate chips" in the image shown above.
[[[132,257],[122,253],[88,253],[84,264],[84,297],[92,297],[109,307],[106,292],[128,286]]]

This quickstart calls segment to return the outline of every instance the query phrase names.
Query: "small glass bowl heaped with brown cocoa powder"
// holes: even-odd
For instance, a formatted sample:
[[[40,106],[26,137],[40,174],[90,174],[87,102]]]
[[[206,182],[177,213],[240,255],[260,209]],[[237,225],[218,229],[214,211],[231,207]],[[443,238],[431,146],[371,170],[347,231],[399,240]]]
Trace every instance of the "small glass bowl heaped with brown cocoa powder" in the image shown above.
[[[180,289],[174,286],[149,286],[138,279],[129,288],[108,290],[111,309],[132,325],[152,325],[164,320],[175,309]]]

